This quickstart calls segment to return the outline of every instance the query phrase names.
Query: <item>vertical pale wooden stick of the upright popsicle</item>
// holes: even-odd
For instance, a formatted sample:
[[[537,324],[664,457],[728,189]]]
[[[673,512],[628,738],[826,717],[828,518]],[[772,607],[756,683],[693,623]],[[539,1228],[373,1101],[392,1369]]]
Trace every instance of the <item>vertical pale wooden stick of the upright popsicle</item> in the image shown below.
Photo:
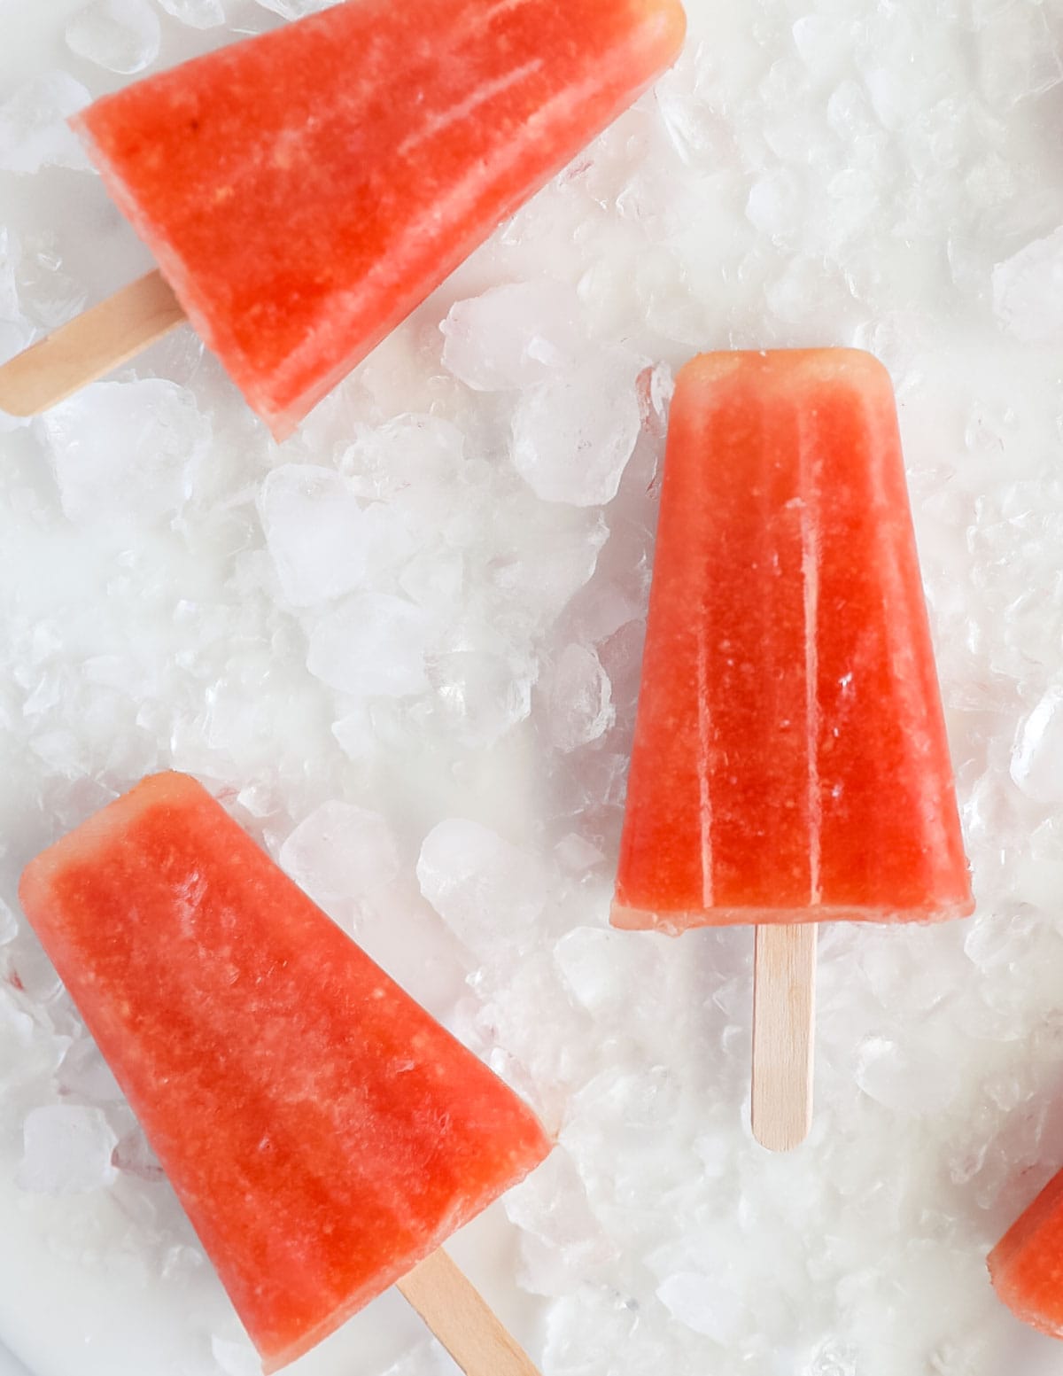
[[[814,922],[756,929],[752,1130],[771,1152],[811,1127],[815,934]]]

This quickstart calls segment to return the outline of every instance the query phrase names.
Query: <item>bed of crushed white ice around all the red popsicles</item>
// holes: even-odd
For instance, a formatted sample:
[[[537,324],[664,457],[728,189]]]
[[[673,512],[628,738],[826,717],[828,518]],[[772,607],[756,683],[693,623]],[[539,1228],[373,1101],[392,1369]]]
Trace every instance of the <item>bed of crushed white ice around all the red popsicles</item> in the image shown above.
[[[0,0],[3,354],[149,266],[63,117],[308,8]],[[187,329],[0,417],[0,1337],[34,1376],[256,1369],[15,900],[166,766],[558,1130],[454,1241],[545,1376],[1063,1364],[983,1267],[1063,1164],[1063,0],[689,10],[283,446]],[[897,384],[979,911],[824,932],[815,1126],[771,1157],[751,933],[606,911],[672,372],[796,344]],[[454,1370],[395,1295],[296,1369]]]

